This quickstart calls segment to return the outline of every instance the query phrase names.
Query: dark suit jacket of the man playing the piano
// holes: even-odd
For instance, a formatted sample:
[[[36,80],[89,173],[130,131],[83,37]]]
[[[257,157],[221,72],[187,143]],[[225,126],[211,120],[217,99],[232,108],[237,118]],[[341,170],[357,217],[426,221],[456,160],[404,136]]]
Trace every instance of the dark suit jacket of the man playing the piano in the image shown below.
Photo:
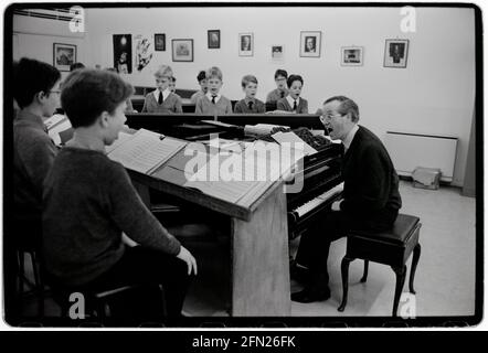
[[[359,126],[342,163],[341,211],[367,224],[392,224],[402,206],[399,175],[380,139]]]

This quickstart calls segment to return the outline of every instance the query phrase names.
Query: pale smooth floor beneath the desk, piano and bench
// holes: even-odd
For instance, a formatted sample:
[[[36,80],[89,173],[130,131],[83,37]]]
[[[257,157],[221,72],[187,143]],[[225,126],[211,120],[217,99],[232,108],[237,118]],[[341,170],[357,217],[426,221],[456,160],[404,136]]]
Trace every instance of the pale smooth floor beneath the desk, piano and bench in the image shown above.
[[[421,217],[422,255],[418,263],[416,296],[402,297],[400,313],[416,317],[471,315],[475,310],[476,200],[460,195],[457,188],[423,190],[401,181],[402,213]],[[291,253],[298,240],[291,244]],[[193,281],[184,303],[184,314],[191,317],[226,317],[230,309],[229,240],[191,242],[188,245],[199,261],[199,276]],[[359,279],[362,261],[349,269],[349,300],[346,311],[337,311],[342,289],[340,260],[346,239],[332,244],[329,257],[331,298],[323,302],[291,302],[293,317],[386,317],[391,314],[395,277],[390,267],[370,263],[367,284]],[[410,261],[407,263],[410,275]],[[407,277],[409,278],[409,277]],[[407,282],[407,281],[406,281]],[[291,282],[291,291],[299,290]],[[404,292],[407,295],[405,284]],[[57,315],[59,308],[50,299],[46,314]],[[402,309],[403,308],[403,309]],[[35,313],[35,300],[26,300],[26,318]]]

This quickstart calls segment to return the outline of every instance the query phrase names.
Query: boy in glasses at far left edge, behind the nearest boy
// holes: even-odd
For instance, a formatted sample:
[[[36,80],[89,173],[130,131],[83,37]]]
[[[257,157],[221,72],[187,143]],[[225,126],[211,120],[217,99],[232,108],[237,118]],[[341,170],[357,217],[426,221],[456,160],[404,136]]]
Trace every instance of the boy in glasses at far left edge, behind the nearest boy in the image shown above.
[[[61,74],[49,64],[23,57],[15,65],[13,76],[13,97],[20,108],[13,120],[14,218],[22,227],[17,231],[18,236],[36,244],[43,182],[57,154],[43,119],[51,117],[60,106]]]

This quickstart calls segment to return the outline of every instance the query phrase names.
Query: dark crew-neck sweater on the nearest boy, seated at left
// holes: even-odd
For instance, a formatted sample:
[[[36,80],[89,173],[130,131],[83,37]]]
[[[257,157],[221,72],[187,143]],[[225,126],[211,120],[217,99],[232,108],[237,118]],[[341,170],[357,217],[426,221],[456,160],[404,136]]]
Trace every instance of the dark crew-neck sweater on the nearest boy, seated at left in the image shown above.
[[[103,152],[65,147],[45,180],[43,204],[45,265],[66,285],[87,284],[110,269],[124,255],[123,232],[145,247],[180,252],[125,168]]]

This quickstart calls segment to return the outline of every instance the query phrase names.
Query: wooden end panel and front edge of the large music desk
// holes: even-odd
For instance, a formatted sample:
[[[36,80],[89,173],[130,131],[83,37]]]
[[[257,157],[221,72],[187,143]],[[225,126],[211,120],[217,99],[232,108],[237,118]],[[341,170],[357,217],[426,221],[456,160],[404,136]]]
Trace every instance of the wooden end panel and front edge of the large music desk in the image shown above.
[[[287,203],[283,181],[274,183],[247,208],[151,175],[128,172],[148,206],[149,188],[152,188],[231,217],[232,317],[290,315]]]

